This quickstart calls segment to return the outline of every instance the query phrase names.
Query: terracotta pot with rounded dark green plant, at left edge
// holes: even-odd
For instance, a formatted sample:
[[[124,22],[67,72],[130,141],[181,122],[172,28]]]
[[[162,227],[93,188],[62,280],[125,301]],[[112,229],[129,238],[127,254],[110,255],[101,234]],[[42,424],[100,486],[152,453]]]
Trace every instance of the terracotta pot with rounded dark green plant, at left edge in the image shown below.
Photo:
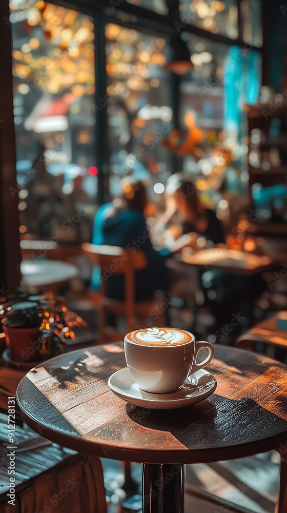
[[[36,362],[40,359],[38,336],[42,316],[36,302],[14,303],[6,312],[3,329],[12,359]]]

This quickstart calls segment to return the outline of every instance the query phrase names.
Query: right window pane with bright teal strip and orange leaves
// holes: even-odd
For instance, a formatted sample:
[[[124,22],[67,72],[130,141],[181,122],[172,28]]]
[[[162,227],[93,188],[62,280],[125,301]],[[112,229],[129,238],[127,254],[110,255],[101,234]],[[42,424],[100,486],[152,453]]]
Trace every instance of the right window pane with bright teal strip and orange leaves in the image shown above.
[[[222,190],[246,190],[247,120],[244,103],[256,102],[260,54],[250,46],[211,42],[186,34],[194,69],[180,81],[180,150],[183,170],[193,173],[202,199],[214,208]],[[182,142],[183,139],[183,142]]]

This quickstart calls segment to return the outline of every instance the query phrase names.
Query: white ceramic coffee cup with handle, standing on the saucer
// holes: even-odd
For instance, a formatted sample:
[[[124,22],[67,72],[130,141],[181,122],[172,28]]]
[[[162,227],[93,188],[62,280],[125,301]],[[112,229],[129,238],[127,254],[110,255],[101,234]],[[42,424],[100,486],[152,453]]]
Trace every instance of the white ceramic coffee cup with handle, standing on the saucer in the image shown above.
[[[214,356],[214,349],[209,342],[197,342],[189,331],[176,330],[188,339],[187,342],[174,345],[152,345],[149,341],[152,330],[164,330],[168,333],[173,328],[148,328],[132,331],[125,337],[125,357],[128,369],[137,385],[147,392],[168,393],[180,388],[186,379],[199,369],[208,365]],[[144,333],[147,343],[135,343],[135,333]],[[135,339],[134,339],[135,340]],[[151,344],[151,345],[150,345]],[[209,349],[208,357],[200,364],[196,363],[200,349]]]

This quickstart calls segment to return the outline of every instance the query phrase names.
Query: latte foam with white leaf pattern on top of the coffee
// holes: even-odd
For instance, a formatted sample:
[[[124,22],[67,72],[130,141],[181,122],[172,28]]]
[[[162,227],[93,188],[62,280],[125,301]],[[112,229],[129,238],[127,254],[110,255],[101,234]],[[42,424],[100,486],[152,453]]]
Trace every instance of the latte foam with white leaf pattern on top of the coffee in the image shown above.
[[[188,331],[176,328],[137,329],[127,335],[127,339],[134,344],[145,346],[176,346],[186,344],[192,338]]]

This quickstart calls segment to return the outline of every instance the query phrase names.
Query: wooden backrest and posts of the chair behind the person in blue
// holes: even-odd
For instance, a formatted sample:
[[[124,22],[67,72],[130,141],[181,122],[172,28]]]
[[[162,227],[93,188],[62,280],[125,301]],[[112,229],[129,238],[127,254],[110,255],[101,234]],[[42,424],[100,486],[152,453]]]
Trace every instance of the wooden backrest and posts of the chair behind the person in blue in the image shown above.
[[[135,299],[135,280],[136,270],[147,267],[145,253],[141,250],[134,252],[127,248],[119,246],[97,246],[95,244],[82,244],[83,252],[86,253],[93,264],[100,266],[101,293],[106,295],[106,285],[108,278],[112,274],[125,275],[125,302],[127,309],[133,309]]]

